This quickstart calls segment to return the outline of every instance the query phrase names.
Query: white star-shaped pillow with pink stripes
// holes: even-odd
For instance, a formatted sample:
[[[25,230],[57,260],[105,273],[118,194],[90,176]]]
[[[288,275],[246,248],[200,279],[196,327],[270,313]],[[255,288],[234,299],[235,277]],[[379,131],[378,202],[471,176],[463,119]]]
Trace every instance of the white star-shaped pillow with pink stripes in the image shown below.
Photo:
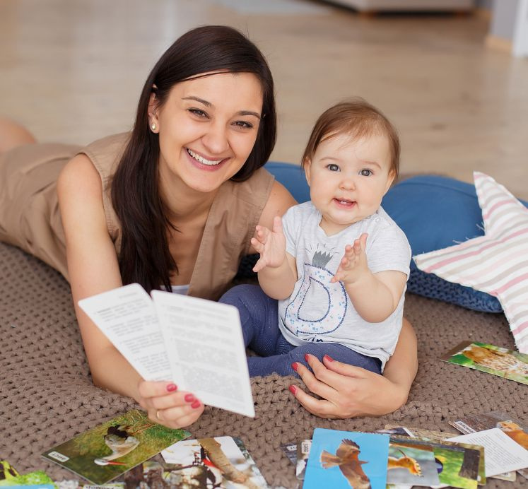
[[[418,269],[494,295],[528,353],[528,209],[503,185],[474,172],[484,236],[413,257]]]

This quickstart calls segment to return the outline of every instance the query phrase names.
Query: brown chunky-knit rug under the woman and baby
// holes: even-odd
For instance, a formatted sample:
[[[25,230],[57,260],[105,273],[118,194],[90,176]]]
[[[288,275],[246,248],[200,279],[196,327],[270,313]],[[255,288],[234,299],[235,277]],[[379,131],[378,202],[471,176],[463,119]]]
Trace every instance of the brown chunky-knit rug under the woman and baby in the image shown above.
[[[0,281],[0,459],[20,473],[42,469],[59,481],[74,478],[40,454],[139,406],[91,383],[69,286],[59,273],[0,243]],[[315,427],[377,430],[401,423],[453,431],[450,420],[487,411],[504,411],[528,424],[528,386],[438,360],[465,339],[513,348],[503,314],[472,312],[410,294],[405,310],[418,334],[420,368],[409,402],[395,413],[322,420],[293,400],[291,378],[270,376],[253,379],[254,420],[206,408],[189,430],[196,437],[240,437],[270,485],[294,488],[294,469],[280,445],[310,438]],[[517,475],[515,484],[489,479],[486,487],[521,485],[528,481]]]

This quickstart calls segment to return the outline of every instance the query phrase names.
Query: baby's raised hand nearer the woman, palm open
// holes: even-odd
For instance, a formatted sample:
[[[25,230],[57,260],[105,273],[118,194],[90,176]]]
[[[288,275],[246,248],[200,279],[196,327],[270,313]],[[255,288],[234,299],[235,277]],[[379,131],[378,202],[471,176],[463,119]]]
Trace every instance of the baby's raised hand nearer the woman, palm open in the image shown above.
[[[251,238],[251,244],[260,253],[253,271],[261,271],[266,266],[272,269],[281,266],[286,259],[286,237],[282,230],[282,219],[278,216],[274,218],[271,231],[258,225],[254,237]]]

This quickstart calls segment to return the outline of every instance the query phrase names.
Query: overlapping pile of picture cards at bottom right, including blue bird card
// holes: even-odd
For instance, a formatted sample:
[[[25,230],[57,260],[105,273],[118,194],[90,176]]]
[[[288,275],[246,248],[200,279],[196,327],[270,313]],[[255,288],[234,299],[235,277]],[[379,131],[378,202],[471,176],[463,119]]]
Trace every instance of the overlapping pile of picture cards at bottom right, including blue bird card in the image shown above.
[[[476,489],[486,477],[511,480],[508,474],[498,474],[528,467],[528,451],[520,443],[528,442],[528,433],[507,416],[488,413],[452,425],[471,432],[471,425],[490,423],[503,429],[457,436],[396,425],[376,433],[316,428],[311,443],[303,440],[282,449],[296,464],[298,478],[304,479],[303,489],[385,489],[386,484],[392,489],[413,485]]]

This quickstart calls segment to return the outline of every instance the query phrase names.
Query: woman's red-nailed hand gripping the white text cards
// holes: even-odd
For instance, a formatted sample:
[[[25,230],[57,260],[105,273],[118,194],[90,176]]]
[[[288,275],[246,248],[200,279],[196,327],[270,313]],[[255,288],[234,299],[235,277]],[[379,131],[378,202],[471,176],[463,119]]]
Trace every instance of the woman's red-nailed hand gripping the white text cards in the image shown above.
[[[141,407],[155,423],[177,429],[192,425],[204,412],[204,403],[194,394],[178,391],[172,382],[147,382],[138,386]]]

